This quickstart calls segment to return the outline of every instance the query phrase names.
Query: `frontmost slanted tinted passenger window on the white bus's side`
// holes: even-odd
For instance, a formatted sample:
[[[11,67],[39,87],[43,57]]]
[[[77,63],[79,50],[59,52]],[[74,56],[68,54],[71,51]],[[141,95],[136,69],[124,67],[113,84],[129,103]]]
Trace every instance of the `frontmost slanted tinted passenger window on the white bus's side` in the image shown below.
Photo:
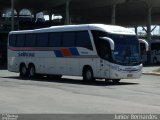
[[[77,41],[76,41],[77,47],[85,47],[91,50],[93,49],[88,31],[77,32],[76,37],[77,37]]]

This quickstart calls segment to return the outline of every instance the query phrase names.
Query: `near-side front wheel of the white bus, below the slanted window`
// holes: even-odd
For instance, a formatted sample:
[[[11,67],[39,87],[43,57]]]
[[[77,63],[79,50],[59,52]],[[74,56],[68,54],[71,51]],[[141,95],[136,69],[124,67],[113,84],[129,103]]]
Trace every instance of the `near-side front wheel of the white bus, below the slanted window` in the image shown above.
[[[85,67],[83,70],[83,80],[85,82],[95,81],[93,70],[90,67]]]

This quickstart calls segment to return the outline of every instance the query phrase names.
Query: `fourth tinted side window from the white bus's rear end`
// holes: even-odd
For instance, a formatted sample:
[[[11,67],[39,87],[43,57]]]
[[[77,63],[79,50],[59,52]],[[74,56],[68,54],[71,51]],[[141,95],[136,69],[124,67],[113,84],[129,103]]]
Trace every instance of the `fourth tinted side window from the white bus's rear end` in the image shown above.
[[[48,46],[48,33],[39,33],[37,35],[37,47]]]

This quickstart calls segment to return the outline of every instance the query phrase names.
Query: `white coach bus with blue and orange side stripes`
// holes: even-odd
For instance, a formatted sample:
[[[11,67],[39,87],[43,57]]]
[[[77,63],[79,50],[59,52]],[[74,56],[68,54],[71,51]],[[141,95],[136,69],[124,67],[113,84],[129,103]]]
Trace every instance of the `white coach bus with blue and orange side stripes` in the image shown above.
[[[83,80],[139,78],[139,40],[131,30],[87,24],[9,33],[8,70],[22,77],[37,74],[83,76]]]

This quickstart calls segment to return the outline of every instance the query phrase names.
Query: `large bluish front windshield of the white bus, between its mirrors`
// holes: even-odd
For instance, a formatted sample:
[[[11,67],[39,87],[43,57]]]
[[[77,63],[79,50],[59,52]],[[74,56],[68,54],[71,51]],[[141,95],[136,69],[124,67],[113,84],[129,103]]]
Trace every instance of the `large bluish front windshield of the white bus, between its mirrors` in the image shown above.
[[[114,62],[126,65],[140,63],[139,41],[136,36],[110,34],[109,37],[115,43]]]

